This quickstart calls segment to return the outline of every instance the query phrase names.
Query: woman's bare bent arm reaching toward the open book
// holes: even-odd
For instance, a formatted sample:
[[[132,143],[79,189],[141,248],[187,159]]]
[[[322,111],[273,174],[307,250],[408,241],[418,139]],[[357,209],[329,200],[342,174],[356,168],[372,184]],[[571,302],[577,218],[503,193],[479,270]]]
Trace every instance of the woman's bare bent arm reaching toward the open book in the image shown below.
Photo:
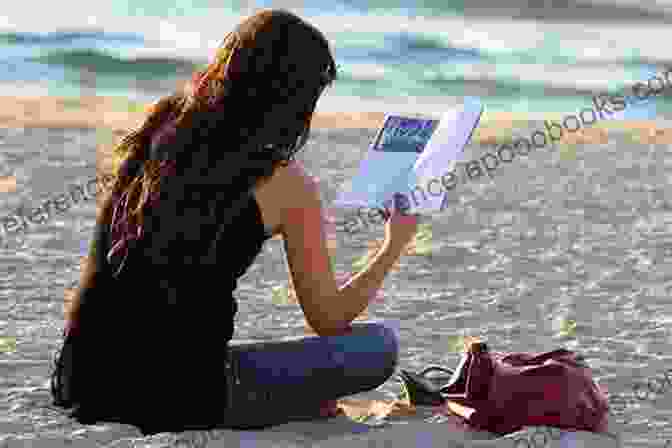
[[[290,165],[281,174],[291,205],[283,210],[281,233],[297,299],[308,324],[320,336],[341,334],[366,309],[403,251],[386,240],[377,255],[338,288],[324,229],[318,186]]]

